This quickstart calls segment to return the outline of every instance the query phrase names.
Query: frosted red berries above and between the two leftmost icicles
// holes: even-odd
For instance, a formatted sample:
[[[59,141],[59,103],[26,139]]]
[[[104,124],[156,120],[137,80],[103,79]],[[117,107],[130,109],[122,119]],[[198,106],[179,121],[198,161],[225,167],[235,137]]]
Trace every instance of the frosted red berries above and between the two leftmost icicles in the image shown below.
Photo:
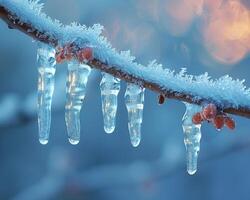
[[[64,47],[58,47],[56,51],[56,62],[62,63],[72,58],[81,63],[87,63],[93,59],[93,50],[90,47],[78,48],[74,43],[67,44]]]

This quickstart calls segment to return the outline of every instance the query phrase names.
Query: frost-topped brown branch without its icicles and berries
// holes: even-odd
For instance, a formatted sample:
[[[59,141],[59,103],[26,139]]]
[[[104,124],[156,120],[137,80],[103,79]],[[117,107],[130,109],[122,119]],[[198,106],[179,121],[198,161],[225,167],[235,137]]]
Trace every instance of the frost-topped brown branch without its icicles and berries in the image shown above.
[[[101,36],[100,25],[91,28],[77,24],[63,26],[42,13],[41,8],[36,1],[0,0],[0,17],[9,28],[54,47],[75,42],[77,38],[79,47],[87,44],[93,48],[94,59],[88,65],[126,82],[138,84],[170,99],[193,104],[211,102],[223,112],[250,118],[250,90],[243,85],[244,81],[233,80],[229,76],[211,80],[207,74],[191,76],[184,70],[175,73],[163,69],[155,61],[145,67],[134,62],[135,58],[129,52],[117,53]]]

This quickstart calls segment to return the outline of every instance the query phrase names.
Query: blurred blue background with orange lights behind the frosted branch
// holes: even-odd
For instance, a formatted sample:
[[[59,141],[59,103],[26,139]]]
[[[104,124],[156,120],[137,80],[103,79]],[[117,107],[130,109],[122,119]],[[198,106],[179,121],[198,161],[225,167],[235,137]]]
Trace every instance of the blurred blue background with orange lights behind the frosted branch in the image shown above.
[[[118,50],[137,61],[213,78],[229,74],[250,87],[248,0],[47,0],[64,24],[100,23]],[[68,143],[64,122],[66,65],[58,65],[48,145],[38,142],[35,42],[0,21],[0,199],[249,200],[250,121],[235,131],[202,126],[198,172],[186,172],[184,104],[158,106],[146,91],[142,142],[130,145],[125,83],[114,134],[103,130],[100,72],[93,71],[81,113],[81,141]]]

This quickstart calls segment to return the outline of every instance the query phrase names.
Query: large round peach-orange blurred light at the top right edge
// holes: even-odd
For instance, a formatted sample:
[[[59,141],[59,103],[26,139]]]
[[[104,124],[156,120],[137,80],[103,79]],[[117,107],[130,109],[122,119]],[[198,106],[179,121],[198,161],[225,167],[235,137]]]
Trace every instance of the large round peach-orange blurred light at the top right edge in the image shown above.
[[[203,28],[204,45],[225,64],[239,62],[250,50],[250,12],[239,1],[228,1],[211,10]]]

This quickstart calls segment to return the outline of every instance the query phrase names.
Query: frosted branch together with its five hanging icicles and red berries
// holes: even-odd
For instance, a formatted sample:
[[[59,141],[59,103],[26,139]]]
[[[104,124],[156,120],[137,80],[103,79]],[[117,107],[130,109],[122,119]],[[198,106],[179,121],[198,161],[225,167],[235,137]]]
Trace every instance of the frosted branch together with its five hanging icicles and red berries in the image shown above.
[[[80,141],[80,111],[91,68],[102,71],[100,89],[107,133],[115,129],[120,79],[127,82],[125,104],[134,147],[141,141],[145,88],[159,94],[159,103],[165,98],[185,103],[182,128],[187,171],[191,175],[197,170],[203,121],[212,122],[220,130],[224,125],[235,128],[234,120],[226,113],[250,118],[250,89],[246,88],[244,80],[233,80],[228,75],[212,80],[207,73],[188,75],[186,69],[176,73],[155,60],[143,66],[135,62],[129,51],[118,53],[112,48],[101,35],[101,25],[87,28],[72,23],[64,26],[42,13],[42,7],[39,0],[0,0],[0,17],[8,27],[39,41],[38,127],[41,144],[49,141],[56,63],[63,61],[68,61],[65,121],[69,142],[74,145]]]

